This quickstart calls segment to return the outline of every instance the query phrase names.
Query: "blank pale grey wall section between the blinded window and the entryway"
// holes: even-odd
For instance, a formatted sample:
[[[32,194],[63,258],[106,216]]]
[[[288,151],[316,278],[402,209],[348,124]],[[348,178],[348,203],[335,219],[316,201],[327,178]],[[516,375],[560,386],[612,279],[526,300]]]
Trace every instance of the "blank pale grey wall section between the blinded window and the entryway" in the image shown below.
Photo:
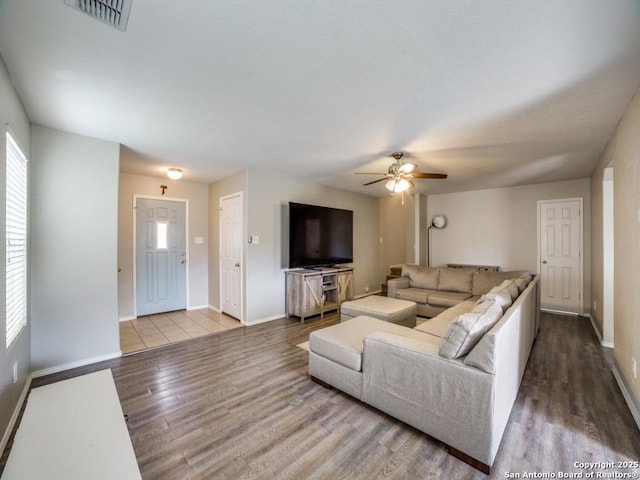
[[[35,371],[120,353],[118,162],[116,143],[32,127]]]

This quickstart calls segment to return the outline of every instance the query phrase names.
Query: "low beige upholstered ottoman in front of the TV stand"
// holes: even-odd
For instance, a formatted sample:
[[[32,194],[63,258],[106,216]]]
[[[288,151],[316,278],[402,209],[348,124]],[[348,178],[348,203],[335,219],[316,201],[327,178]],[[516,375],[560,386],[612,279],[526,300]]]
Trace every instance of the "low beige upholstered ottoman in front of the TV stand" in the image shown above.
[[[416,326],[416,313],[418,307],[415,302],[400,300],[380,295],[370,295],[350,302],[344,302],[340,306],[340,321],[346,322],[359,315],[378,318],[385,322]]]

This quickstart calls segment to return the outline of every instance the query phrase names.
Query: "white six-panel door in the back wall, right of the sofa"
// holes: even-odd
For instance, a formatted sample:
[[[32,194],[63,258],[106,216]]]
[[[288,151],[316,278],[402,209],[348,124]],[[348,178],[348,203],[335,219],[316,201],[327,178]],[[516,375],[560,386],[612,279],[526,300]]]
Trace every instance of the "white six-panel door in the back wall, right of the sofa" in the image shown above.
[[[540,305],[582,313],[582,199],[538,202]]]

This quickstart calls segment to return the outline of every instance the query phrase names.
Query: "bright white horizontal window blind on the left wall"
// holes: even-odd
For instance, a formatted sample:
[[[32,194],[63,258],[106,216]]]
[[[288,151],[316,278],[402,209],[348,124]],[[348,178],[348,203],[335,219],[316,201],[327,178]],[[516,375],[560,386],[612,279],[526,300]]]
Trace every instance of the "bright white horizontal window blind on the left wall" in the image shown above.
[[[7,131],[7,348],[27,324],[27,158]]]

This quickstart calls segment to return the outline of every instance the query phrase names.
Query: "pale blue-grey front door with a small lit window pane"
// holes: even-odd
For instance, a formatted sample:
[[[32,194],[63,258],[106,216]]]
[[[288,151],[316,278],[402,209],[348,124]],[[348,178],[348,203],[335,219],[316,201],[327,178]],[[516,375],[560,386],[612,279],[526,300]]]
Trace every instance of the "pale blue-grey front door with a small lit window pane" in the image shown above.
[[[186,308],[185,203],[137,198],[137,315]]]

